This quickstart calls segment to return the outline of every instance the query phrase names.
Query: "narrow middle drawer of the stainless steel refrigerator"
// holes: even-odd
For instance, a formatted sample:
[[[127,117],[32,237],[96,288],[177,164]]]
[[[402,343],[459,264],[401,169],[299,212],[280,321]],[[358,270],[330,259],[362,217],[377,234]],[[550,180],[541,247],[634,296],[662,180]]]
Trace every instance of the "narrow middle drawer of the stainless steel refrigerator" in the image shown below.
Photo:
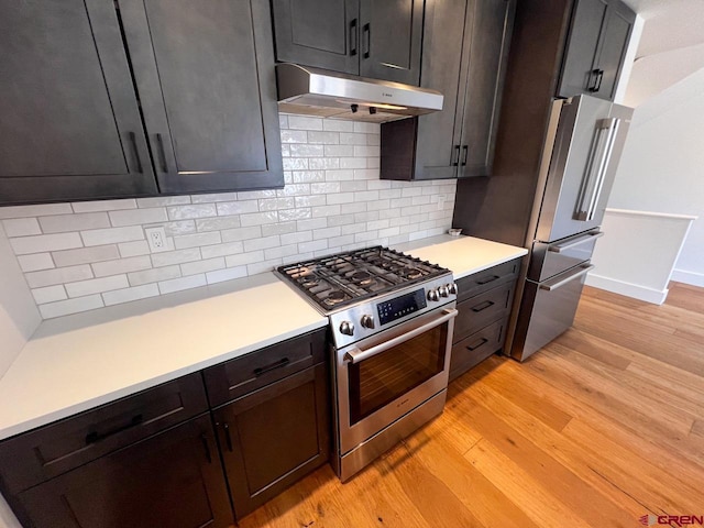
[[[528,278],[540,283],[592,258],[596,241],[604,237],[598,229],[558,242],[535,242],[530,253]]]

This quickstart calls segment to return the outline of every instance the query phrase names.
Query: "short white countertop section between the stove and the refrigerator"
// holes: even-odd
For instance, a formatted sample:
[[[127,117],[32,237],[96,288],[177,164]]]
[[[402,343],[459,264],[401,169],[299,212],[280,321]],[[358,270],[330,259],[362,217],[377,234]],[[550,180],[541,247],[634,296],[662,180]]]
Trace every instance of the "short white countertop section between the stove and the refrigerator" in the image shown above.
[[[452,270],[455,280],[528,253],[525,248],[449,234],[408,242],[394,249]]]

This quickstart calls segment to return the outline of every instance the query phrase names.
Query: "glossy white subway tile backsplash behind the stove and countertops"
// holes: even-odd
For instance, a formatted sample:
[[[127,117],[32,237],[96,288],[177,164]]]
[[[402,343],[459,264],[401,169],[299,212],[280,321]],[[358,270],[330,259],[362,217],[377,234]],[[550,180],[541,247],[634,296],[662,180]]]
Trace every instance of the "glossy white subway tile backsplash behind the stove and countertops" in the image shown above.
[[[230,280],[450,227],[455,182],[378,179],[378,124],[286,114],[279,122],[280,189],[0,208],[42,315]],[[168,251],[152,254],[143,229],[157,226]]]

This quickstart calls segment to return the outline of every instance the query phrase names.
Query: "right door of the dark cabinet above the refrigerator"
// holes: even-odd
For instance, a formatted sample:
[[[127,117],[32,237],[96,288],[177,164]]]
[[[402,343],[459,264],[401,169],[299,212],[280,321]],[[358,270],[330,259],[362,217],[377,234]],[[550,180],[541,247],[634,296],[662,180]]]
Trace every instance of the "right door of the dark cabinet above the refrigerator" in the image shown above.
[[[620,2],[612,3],[602,37],[598,55],[598,90],[592,92],[596,97],[612,101],[624,66],[628,41],[635,22],[635,14]]]

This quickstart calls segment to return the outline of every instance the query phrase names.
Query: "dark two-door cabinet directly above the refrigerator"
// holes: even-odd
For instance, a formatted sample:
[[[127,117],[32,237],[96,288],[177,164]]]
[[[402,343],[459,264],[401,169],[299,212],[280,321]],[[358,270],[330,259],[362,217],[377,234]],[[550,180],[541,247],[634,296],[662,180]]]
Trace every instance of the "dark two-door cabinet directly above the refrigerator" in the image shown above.
[[[578,0],[558,96],[613,100],[635,20],[618,0]]]

